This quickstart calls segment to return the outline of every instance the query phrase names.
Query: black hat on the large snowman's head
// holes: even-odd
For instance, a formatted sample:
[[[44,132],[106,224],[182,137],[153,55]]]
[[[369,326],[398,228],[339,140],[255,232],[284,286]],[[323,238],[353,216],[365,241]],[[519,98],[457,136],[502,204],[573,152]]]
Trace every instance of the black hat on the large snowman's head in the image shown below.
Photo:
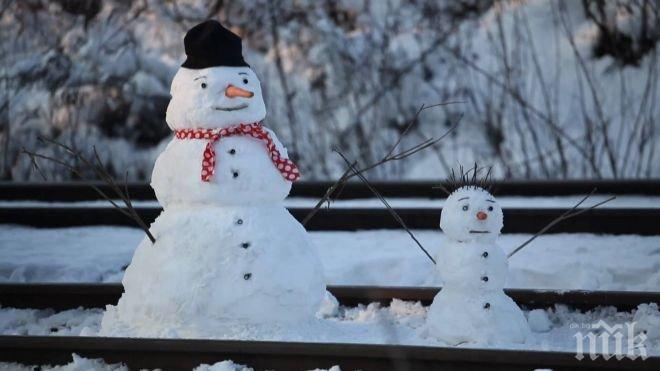
[[[199,70],[208,67],[250,67],[243,59],[241,38],[220,22],[208,20],[191,28],[183,38],[186,61],[181,67]]]

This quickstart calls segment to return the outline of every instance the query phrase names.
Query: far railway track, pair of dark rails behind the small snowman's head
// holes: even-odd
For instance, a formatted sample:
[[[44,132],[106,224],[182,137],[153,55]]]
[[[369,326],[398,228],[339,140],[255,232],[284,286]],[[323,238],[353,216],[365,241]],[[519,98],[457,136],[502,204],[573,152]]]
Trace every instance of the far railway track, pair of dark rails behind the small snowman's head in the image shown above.
[[[48,201],[76,202],[99,200],[100,197],[90,184],[111,193],[107,185],[94,182],[65,183],[9,183],[0,182],[0,200],[3,201]],[[328,182],[298,182],[291,191],[293,197],[320,198],[330,185]],[[434,189],[433,182],[381,182],[375,187],[386,197],[442,199],[444,195]],[[660,195],[660,180],[630,181],[505,181],[496,182],[493,188],[498,195],[561,196],[586,194],[594,187],[601,194],[644,194]],[[146,183],[129,184],[129,193],[134,200],[155,200],[153,190]],[[341,199],[373,198],[373,194],[361,183],[348,183],[340,194]],[[111,207],[82,205],[0,207],[1,224],[20,224],[43,228],[75,227],[90,225],[134,226]],[[137,207],[138,214],[151,223],[161,212],[159,207]],[[289,209],[293,216],[302,220],[309,208]],[[437,229],[441,208],[397,208],[408,227],[414,229]],[[563,208],[507,208],[504,210],[506,223],[504,233],[535,233],[548,222],[561,215]],[[603,208],[591,210],[571,220],[560,223],[549,233],[606,233],[655,235],[659,230],[656,220],[660,219],[660,208]],[[384,208],[332,208],[322,209],[307,224],[308,230],[365,230],[400,229],[401,226]]]

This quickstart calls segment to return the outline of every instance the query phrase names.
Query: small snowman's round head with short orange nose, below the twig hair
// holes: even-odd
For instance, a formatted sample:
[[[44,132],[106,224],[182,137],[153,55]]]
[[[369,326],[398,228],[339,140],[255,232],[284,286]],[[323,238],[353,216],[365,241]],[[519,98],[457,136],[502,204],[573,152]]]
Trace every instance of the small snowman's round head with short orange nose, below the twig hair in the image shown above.
[[[454,191],[440,215],[440,228],[456,241],[493,242],[504,223],[502,208],[483,188],[464,186]]]

